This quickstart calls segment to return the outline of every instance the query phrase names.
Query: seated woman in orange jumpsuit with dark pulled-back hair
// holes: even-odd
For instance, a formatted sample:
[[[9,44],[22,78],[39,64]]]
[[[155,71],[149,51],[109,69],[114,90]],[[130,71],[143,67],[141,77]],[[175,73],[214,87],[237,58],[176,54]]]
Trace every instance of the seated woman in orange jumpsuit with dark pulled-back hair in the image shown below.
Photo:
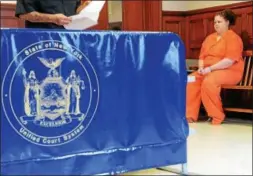
[[[212,124],[221,124],[225,118],[221,87],[239,83],[244,69],[242,40],[230,29],[235,21],[236,15],[229,9],[217,13],[214,18],[216,32],[202,44],[199,69],[191,74],[195,82],[187,84],[186,118],[189,123],[198,120],[201,101]]]

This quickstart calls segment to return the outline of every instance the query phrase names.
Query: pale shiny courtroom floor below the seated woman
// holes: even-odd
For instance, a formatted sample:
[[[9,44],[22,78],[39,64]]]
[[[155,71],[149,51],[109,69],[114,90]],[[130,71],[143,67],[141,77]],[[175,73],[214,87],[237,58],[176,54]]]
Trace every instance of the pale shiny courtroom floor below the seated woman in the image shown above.
[[[189,175],[252,175],[252,123],[190,124]],[[169,166],[179,171],[180,166]],[[122,175],[176,175],[157,169]]]

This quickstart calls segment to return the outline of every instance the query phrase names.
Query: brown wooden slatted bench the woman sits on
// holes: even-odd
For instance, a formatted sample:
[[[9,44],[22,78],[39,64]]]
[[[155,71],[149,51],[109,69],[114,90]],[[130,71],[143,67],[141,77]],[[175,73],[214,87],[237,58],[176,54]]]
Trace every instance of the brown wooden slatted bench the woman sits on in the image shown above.
[[[252,58],[252,50],[245,51],[243,53],[244,57],[244,73],[241,82],[238,85],[235,86],[223,86],[223,90],[226,91],[226,89],[234,89],[234,90],[240,90],[240,91],[247,91],[246,93],[252,93],[252,79],[253,79],[253,58]],[[250,92],[251,91],[251,92]],[[247,94],[249,95],[249,94]],[[251,96],[252,98],[252,96]],[[252,101],[250,101],[252,103]],[[247,108],[229,108],[224,107],[225,111],[233,111],[233,112],[244,112],[244,113],[253,113],[253,109],[247,109]]]

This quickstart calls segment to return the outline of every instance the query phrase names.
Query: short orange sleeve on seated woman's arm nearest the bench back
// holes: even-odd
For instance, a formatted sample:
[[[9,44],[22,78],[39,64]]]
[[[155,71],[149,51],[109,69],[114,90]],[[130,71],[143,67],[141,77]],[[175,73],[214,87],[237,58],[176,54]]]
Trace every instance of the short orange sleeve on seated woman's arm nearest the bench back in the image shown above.
[[[226,38],[226,53],[224,58],[239,61],[242,57],[243,43],[240,37],[228,36]]]

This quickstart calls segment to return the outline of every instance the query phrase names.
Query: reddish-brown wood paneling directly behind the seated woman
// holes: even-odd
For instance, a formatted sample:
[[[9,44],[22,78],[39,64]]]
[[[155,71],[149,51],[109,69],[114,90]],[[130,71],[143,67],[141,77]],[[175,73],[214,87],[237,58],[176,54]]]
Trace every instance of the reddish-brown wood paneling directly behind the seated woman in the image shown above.
[[[175,24],[174,26],[168,24],[168,21],[170,21],[168,17],[185,18],[185,33],[182,34],[181,32],[180,35],[185,38],[187,58],[198,59],[204,39],[207,35],[215,32],[215,14],[226,8],[232,9],[237,14],[237,23],[232,29],[242,37],[244,49],[252,50],[252,2],[249,1],[184,12],[163,12],[163,30],[178,30]]]

